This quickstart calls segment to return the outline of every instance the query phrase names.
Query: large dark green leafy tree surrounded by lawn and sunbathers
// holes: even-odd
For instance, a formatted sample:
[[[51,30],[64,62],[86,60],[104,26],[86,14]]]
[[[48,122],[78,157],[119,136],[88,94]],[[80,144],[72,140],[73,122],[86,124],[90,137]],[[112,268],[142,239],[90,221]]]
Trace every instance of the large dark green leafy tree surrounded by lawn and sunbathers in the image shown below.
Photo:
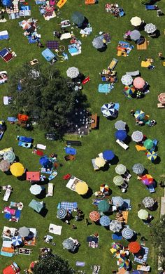
[[[82,96],[54,66],[38,65],[34,69],[25,64],[10,77],[9,90],[13,115],[29,115],[41,129],[55,133],[57,138],[65,133],[76,98]]]

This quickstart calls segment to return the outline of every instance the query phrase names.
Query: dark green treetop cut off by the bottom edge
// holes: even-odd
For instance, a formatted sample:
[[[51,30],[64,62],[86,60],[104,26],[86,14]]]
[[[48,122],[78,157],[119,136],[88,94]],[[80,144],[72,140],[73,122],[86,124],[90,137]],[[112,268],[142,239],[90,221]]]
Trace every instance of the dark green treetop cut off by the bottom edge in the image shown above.
[[[69,262],[61,256],[54,254],[39,259],[34,265],[34,274],[73,274],[75,271],[69,266]]]

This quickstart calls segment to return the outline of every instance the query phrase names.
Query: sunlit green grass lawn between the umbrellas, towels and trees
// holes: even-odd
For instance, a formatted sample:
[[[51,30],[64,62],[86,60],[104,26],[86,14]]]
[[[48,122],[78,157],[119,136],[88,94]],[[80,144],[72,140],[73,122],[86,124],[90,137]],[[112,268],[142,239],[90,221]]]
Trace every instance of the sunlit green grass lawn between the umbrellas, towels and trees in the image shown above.
[[[24,164],[29,171],[37,171],[40,167],[39,157],[31,153],[31,150],[25,148],[20,148],[17,145],[16,136],[31,136],[34,138],[34,143],[43,143],[47,145],[45,153],[50,155],[51,152],[56,152],[58,155],[59,162],[63,164],[63,167],[59,167],[57,178],[52,181],[55,184],[55,191],[53,197],[45,197],[44,201],[46,203],[46,208],[48,209],[48,214],[45,218],[36,214],[32,209],[28,207],[29,202],[34,198],[29,192],[30,183],[28,181],[19,181],[14,176],[6,176],[1,172],[1,185],[10,184],[13,186],[14,191],[10,197],[10,201],[23,202],[24,208],[22,209],[22,216],[19,223],[8,223],[3,214],[1,214],[1,224],[0,231],[2,231],[3,226],[14,226],[19,228],[20,226],[35,227],[38,230],[38,240],[36,247],[32,247],[33,252],[31,256],[13,256],[9,259],[7,257],[0,256],[0,272],[5,266],[8,266],[12,261],[16,261],[21,268],[21,273],[23,269],[29,266],[32,260],[38,258],[38,252],[40,247],[44,247],[46,244],[43,242],[43,236],[48,233],[48,226],[50,223],[55,223],[57,225],[62,225],[62,235],[55,235],[54,241],[56,246],[52,247],[53,252],[61,254],[64,259],[69,259],[69,263],[73,268],[76,268],[76,261],[85,261],[85,270],[87,273],[91,273],[90,265],[99,264],[101,265],[101,273],[108,274],[112,270],[117,269],[116,259],[113,259],[112,254],[109,252],[110,244],[113,242],[111,239],[112,233],[101,226],[96,226],[92,224],[91,226],[85,226],[84,221],[76,223],[78,229],[71,230],[71,226],[62,223],[57,219],[57,204],[62,201],[78,202],[78,207],[82,209],[85,213],[85,218],[89,218],[89,212],[94,210],[95,207],[92,205],[92,197],[85,200],[82,199],[78,194],[72,192],[65,187],[66,181],[62,180],[64,174],[70,173],[82,180],[86,181],[93,191],[99,189],[101,183],[107,183],[113,192],[113,196],[121,195],[124,198],[131,199],[132,209],[129,212],[129,226],[136,230],[137,233],[145,236],[148,241],[146,247],[149,247],[150,252],[148,256],[148,264],[152,268],[152,273],[157,273],[157,250],[152,245],[150,241],[150,230],[147,226],[143,225],[137,217],[138,203],[143,200],[144,197],[148,196],[150,193],[145,189],[145,185],[136,180],[136,175],[132,173],[132,178],[129,181],[129,189],[127,193],[122,194],[120,189],[117,188],[113,183],[113,176],[115,176],[115,166],[111,166],[108,171],[98,171],[95,172],[92,168],[91,159],[96,157],[99,152],[103,150],[110,149],[115,152],[115,155],[119,157],[119,163],[125,164],[127,169],[131,171],[131,167],[135,163],[142,163],[148,172],[155,178],[156,181],[161,179],[162,174],[164,174],[164,110],[157,109],[157,95],[164,91],[164,67],[162,66],[162,61],[159,60],[158,53],[163,51],[163,41],[164,41],[164,16],[157,18],[156,11],[145,11],[145,7],[140,4],[140,1],[124,1],[118,0],[117,4],[124,8],[126,15],[122,18],[115,19],[113,15],[106,13],[104,6],[107,3],[106,0],[100,0],[99,4],[87,6],[84,4],[84,0],[68,0],[65,6],[60,10],[61,15],[59,18],[53,18],[50,21],[45,21],[43,16],[40,15],[38,11],[38,6],[34,4],[34,1],[29,1],[31,6],[31,15],[38,19],[38,33],[41,34],[41,41],[43,44],[47,40],[54,39],[52,32],[58,30],[57,25],[61,19],[71,19],[71,13],[73,11],[82,11],[82,13],[88,18],[90,24],[92,25],[93,32],[89,37],[80,37],[79,30],[75,27],[73,32],[76,37],[82,41],[82,54],[79,56],[71,57],[69,55],[69,60],[60,63],[57,62],[55,66],[62,72],[64,77],[66,77],[66,70],[68,67],[76,66],[86,76],[89,75],[91,81],[84,86],[83,93],[87,95],[89,103],[91,105],[91,111],[97,112],[100,116],[100,126],[99,130],[92,131],[89,136],[85,136],[81,139],[82,147],[78,148],[76,160],[73,162],[65,162],[64,160],[64,141],[46,141],[43,132],[39,131],[37,128],[32,132],[24,131],[20,129],[17,131],[15,125],[7,124],[7,131],[1,140],[1,149],[12,147],[20,159],[20,162]],[[163,8],[164,1],[158,2],[160,8]],[[108,64],[113,58],[116,58],[116,46],[119,40],[122,40],[123,34],[127,30],[132,30],[131,23],[129,20],[134,15],[140,16],[145,22],[152,22],[160,30],[160,37],[157,39],[152,39],[147,37],[145,32],[141,32],[150,41],[147,51],[137,51],[136,46],[134,50],[131,51],[129,57],[118,57],[119,62],[115,70],[117,71],[117,77],[119,81],[115,84],[115,89],[107,96],[100,94],[97,91],[98,84],[101,83],[99,72],[108,67]],[[20,20],[23,20],[21,18]],[[28,44],[26,37],[22,35],[23,30],[19,27],[18,22],[20,20],[8,20],[6,23],[1,23],[0,30],[8,30],[10,34],[9,41],[1,41],[1,49],[3,47],[11,47],[15,53],[17,53],[17,58],[14,58],[9,63],[4,63],[1,60],[1,70],[7,70],[8,77],[10,74],[19,70],[19,67],[24,63],[28,62],[34,58],[38,58],[42,65],[45,65],[48,70],[50,65],[46,63],[43,56],[41,56],[41,48],[36,48],[34,44]],[[108,48],[105,52],[100,53],[92,46],[92,39],[99,34],[99,31],[109,32],[111,36],[111,43],[108,44]],[[69,41],[63,40],[62,45],[66,46]],[[134,42],[132,43],[134,44]],[[165,54],[165,53],[164,53]],[[148,70],[145,67],[141,67],[141,60],[138,60],[138,56],[141,56],[141,60],[147,56],[148,58],[155,58],[155,70]],[[145,98],[141,100],[127,100],[122,93],[124,86],[120,81],[121,77],[127,71],[140,70],[141,76],[148,81],[150,84],[150,93],[148,93]],[[8,84],[0,86],[0,101],[1,101],[1,119],[6,121],[7,117],[10,116],[8,111],[8,106],[3,105],[3,96],[10,95],[10,90],[8,90]],[[105,117],[101,115],[100,107],[103,103],[109,102],[120,103],[120,111],[117,119],[123,119],[127,122],[129,126],[129,136],[131,133],[137,129],[142,130],[148,138],[157,138],[159,140],[158,144],[158,154],[161,159],[159,164],[152,164],[146,157],[144,152],[137,152],[135,148],[135,143],[131,142],[129,144],[129,150],[125,151],[120,148],[119,145],[115,143],[115,121],[108,121]],[[148,126],[143,126],[139,128],[135,126],[134,118],[130,115],[131,109],[141,109],[150,115],[151,119],[157,120],[157,125],[154,128]],[[72,138],[72,137],[66,137]],[[74,136],[73,139],[76,137]],[[156,193],[152,194],[152,197],[157,198],[158,202],[160,197],[163,195],[159,188],[156,189]],[[0,200],[0,208],[3,210],[8,203],[2,201],[2,195]],[[153,225],[159,221],[159,208],[157,211],[152,212],[154,220]],[[110,218],[115,218],[114,214]],[[71,224],[75,223],[71,221]],[[87,247],[86,237],[94,232],[99,233],[99,249],[92,249]],[[77,254],[71,254],[67,250],[62,248],[62,241],[67,237],[77,238],[81,244],[79,252]],[[140,237],[138,237],[140,239]],[[139,240],[138,239],[138,240]],[[123,244],[127,245],[126,240],[122,241]],[[1,244],[1,242],[0,242]],[[30,247],[31,248],[31,247]],[[136,269],[136,266],[133,265]],[[77,268],[78,269],[78,268]]]

